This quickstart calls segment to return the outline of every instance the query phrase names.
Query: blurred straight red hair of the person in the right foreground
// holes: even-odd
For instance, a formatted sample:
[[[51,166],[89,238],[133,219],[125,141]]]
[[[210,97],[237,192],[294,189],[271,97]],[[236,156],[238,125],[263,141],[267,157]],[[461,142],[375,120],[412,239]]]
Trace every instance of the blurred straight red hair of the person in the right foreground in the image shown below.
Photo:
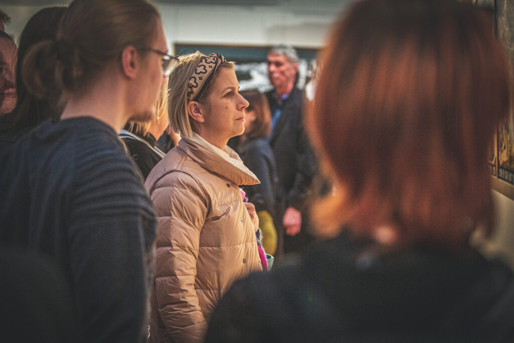
[[[449,0],[364,0],[335,26],[307,116],[336,188],[315,215],[458,250],[493,224],[487,148],[510,80],[491,17]]]

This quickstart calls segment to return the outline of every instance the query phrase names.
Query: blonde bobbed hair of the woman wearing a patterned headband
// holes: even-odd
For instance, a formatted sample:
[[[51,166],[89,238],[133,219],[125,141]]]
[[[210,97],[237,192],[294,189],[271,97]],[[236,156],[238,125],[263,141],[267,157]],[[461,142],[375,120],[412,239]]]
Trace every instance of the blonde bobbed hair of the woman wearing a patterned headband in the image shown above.
[[[170,116],[170,127],[173,131],[179,133],[183,137],[191,137],[193,135],[194,119],[188,114],[188,83],[193,71],[200,63],[200,60],[206,57],[200,51],[180,56],[179,62],[173,73],[170,75],[169,92],[168,92],[168,114]],[[234,62],[223,62],[220,67],[233,68]],[[207,86],[204,94],[198,99],[199,103],[204,104],[207,97],[211,93],[220,68],[218,68],[212,80]]]

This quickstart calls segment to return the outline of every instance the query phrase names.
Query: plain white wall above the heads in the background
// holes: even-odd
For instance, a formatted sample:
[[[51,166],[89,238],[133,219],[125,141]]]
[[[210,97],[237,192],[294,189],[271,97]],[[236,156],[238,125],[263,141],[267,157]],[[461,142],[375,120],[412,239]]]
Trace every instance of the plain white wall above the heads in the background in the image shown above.
[[[59,2],[56,4],[65,4]],[[329,26],[348,0],[283,0],[277,6],[159,4],[170,48],[179,43],[322,47]],[[0,7],[11,16],[6,31],[17,40],[39,6]]]

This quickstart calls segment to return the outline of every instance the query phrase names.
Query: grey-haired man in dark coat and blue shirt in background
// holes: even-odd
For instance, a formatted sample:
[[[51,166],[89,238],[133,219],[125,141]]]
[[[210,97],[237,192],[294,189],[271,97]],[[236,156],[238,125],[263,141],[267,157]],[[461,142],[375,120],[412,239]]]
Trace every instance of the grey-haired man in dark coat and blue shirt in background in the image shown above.
[[[266,93],[271,109],[269,145],[277,161],[281,198],[278,204],[278,251],[302,251],[313,237],[308,231],[304,207],[316,171],[315,156],[303,128],[305,94],[295,85],[298,54],[289,45],[268,52],[268,76],[273,89]],[[283,207],[283,208],[282,208]]]

